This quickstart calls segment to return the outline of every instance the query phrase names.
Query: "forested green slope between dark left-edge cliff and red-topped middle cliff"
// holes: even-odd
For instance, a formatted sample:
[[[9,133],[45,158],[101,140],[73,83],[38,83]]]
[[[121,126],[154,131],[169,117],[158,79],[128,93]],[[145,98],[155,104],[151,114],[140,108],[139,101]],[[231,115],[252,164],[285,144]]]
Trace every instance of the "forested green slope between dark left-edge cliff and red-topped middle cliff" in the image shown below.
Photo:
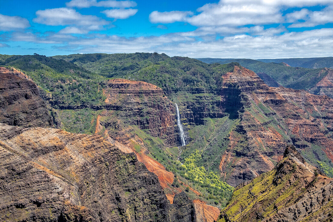
[[[100,106],[105,78],[64,60],[42,55],[0,56],[0,65],[17,68],[45,91],[53,108]]]

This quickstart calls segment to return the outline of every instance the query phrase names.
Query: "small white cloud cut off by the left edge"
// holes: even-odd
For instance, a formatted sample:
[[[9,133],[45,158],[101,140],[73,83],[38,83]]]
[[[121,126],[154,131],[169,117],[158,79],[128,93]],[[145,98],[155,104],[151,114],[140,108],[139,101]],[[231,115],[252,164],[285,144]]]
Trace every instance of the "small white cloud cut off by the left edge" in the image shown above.
[[[0,31],[13,31],[28,28],[29,26],[29,21],[26,18],[0,14]]]

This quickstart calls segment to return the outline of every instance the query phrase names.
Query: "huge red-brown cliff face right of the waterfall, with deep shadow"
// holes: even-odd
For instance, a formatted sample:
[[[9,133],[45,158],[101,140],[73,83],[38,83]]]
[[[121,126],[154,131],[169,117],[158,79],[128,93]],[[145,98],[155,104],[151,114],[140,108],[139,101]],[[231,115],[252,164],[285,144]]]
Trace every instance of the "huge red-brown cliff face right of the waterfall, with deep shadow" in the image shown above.
[[[327,96],[268,87],[254,72],[237,66],[223,76],[221,96],[226,107],[237,107],[232,114],[240,118],[220,163],[229,184],[271,170],[290,143],[314,165],[332,160],[333,100]]]

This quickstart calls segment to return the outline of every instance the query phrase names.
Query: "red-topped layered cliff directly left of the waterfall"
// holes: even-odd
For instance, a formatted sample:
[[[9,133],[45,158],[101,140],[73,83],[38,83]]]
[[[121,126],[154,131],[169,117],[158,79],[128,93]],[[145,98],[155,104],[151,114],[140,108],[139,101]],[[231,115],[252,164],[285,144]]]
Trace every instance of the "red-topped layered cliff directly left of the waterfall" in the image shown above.
[[[105,107],[99,120],[106,129],[110,119],[148,129],[152,136],[175,144],[175,108],[163,90],[153,84],[126,79],[109,80],[104,89]]]

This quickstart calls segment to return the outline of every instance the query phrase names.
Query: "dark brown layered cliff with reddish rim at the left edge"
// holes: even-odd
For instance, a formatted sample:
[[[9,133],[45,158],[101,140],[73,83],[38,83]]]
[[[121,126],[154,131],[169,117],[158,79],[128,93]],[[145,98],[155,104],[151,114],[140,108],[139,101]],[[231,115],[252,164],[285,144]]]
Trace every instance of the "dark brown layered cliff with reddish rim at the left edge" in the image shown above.
[[[0,122],[12,126],[53,126],[36,84],[24,73],[0,67]]]

